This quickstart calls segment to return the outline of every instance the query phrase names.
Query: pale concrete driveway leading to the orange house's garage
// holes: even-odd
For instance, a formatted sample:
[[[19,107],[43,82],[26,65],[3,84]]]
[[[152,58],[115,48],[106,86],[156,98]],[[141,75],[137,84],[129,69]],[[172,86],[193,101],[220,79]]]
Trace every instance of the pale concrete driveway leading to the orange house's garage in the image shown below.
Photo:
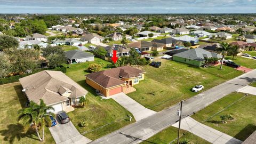
[[[142,105],[140,105],[140,103],[133,100],[124,93],[112,95],[111,98],[118,102],[125,109],[130,111],[136,121],[140,121],[141,119],[154,115],[156,113],[156,111],[143,107]]]

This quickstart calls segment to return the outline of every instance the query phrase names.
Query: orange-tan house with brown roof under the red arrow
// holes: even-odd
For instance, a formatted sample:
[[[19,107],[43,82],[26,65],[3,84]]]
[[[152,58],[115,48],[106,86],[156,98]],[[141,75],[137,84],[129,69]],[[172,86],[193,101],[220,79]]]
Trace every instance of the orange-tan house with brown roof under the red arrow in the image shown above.
[[[91,73],[86,76],[86,83],[98,90],[105,97],[124,92],[144,79],[146,72],[123,66]]]

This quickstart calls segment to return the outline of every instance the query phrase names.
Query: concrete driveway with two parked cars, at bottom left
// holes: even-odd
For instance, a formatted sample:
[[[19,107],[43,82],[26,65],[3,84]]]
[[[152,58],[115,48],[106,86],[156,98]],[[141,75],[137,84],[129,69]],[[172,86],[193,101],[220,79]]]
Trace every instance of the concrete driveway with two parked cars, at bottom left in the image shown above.
[[[58,119],[58,118],[57,118]],[[58,121],[58,120],[57,120]],[[69,144],[69,143],[89,143],[92,140],[81,135],[74,124],[70,121],[67,124],[58,124],[54,127],[49,128],[54,141],[59,144]]]

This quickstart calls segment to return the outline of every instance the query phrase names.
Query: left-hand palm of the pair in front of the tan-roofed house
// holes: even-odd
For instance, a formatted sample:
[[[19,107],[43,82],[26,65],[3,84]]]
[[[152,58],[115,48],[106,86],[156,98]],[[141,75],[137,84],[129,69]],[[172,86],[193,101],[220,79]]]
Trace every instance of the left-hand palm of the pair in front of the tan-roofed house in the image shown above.
[[[18,114],[19,114],[18,122],[22,121],[22,124],[25,127],[25,130],[28,130],[30,127],[31,129],[35,130],[37,137],[39,138],[40,141],[42,141],[41,136],[38,132],[40,128],[38,109],[39,109],[39,105],[37,105],[37,103],[35,103],[34,101],[31,101],[28,108],[20,109],[18,111]]]

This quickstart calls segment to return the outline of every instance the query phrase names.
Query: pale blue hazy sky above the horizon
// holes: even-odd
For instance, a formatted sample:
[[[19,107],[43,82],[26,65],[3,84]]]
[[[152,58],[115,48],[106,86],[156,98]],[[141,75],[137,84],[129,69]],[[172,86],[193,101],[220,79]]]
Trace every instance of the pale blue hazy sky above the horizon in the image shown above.
[[[256,13],[256,0],[0,0],[0,13]]]

